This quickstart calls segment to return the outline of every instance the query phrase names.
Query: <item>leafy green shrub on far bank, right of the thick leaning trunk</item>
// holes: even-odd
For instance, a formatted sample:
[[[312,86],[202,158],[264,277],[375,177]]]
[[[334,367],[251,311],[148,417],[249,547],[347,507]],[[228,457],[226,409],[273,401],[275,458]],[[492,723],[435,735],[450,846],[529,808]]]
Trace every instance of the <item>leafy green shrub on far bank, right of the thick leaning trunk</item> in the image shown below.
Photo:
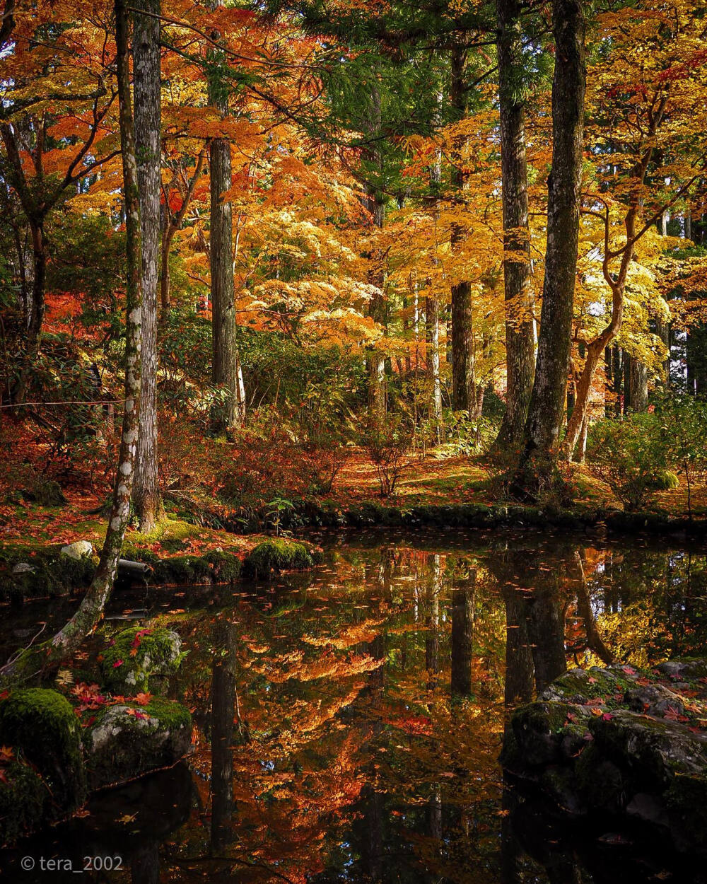
[[[589,462],[627,512],[640,509],[664,484],[666,445],[658,415],[597,422],[590,433]]]

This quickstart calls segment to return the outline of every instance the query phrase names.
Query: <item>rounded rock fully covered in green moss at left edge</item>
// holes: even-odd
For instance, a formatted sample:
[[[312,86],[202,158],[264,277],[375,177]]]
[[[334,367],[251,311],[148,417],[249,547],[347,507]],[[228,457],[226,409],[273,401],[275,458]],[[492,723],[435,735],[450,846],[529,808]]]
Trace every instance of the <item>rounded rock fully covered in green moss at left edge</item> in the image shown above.
[[[0,704],[2,743],[21,750],[41,773],[58,815],[79,807],[87,794],[79,731],[72,705],[56,690],[14,690]]]

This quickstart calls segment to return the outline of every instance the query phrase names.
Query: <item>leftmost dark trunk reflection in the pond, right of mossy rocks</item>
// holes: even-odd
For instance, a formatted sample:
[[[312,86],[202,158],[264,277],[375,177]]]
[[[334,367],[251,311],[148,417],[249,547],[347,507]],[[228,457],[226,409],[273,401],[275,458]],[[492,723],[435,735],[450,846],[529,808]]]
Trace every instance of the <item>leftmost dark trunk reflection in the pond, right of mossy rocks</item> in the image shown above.
[[[211,850],[232,840],[233,717],[236,707],[236,627],[224,623],[211,664]]]

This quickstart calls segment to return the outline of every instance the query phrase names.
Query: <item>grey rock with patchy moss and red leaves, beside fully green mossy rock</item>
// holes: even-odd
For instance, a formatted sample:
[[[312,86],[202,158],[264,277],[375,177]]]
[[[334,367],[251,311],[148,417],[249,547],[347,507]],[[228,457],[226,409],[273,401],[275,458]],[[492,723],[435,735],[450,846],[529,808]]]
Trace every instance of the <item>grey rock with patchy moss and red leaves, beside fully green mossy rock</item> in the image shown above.
[[[148,705],[113,705],[84,736],[92,789],[171,766],[192,742],[192,716],[179,703],[155,697]]]

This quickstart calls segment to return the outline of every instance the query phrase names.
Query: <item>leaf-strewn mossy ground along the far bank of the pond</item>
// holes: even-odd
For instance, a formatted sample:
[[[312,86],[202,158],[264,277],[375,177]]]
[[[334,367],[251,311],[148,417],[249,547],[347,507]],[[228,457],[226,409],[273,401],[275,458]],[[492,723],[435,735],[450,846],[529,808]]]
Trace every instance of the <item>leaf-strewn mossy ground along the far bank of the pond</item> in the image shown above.
[[[608,486],[592,476],[583,465],[571,468],[576,507],[617,509],[621,506]],[[409,461],[395,492],[387,498],[380,495],[376,468],[363,453],[353,452],[346,467],[337,477],[332,492],[321,502],[346,508],[364,501],[376,501],[388,507],[412,507],[445,504],[504,503],[498,493],[498,470],[479,457],[454,457],[444,460],[428,454],[424,459]],[[96,510],[106,499],[106,490],[87,489],[85,485],[63,485],[65,504],[44,507],[19,500],[0,505],[0,550],[5,547],[41,548],[64,545],[75,540],[102,543],[105,517]],[[283,493],[286,497],[286,492]],[[214,501],[216,504],[216,501]],[[267,501],[262,501],[267,503]],[[647,511],[668,515],[687,514],[687,492],[684,485],[671,491],[658,492],[650,499]],[[707,490],[693,493],[695,515],[707,512]],[[143,535],[128,529],[125,554],[148,550],[160,558],[173,555],[201,555],[216,549],[245,557],[262,540],[262,534],[237,534],[182,521],[172,516],[152,534]]]

